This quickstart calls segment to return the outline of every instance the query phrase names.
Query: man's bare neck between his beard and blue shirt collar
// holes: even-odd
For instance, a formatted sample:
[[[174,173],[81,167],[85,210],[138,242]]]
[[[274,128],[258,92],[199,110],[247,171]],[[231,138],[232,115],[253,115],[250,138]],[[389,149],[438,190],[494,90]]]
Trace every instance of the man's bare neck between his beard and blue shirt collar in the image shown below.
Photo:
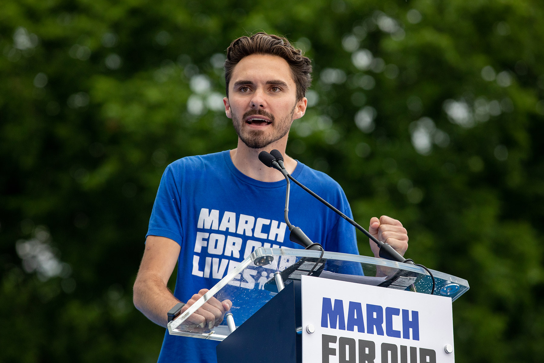
[[[268,168],[259,160],[261,151],[279,150],[283,155],[283,164],[287,169],[287,173],[291,174],[296,168],[296,160],[285,154],[285,140],[278,140],[275,143],[265,146],[263,149],[251,149],[245,145],[242,140],[238,139],[238,147],[230,151],[232,163],[236,169],[252,179],[264,182],[275,182],[285,179],[279,170]]]

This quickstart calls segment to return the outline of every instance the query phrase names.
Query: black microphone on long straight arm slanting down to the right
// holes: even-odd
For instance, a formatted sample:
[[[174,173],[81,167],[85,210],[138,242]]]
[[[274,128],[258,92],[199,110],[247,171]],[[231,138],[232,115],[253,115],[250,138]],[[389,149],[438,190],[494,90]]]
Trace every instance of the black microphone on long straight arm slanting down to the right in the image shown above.
[[[264,151],[265,152],[265,151]],[[261,152],[263,153],[263,152]],[[280,164],[279,162],[277,162],[278,159],[281,160],[281,165],[283,166],[283,156],[281,155],[281,152],[279,150],[272,150],[270,151],[270,155],[272,157],[274,157],[276,159],[276,164],[278,164],[278,167],[280,167]],[[261,155],[259,155],[259,159],[261,158]],[[275,169],[278,169],[275,165],[274,166],[271,166],[271,167],[274,167]],[[281,168],[281,167],[280,167]],[[280,170],[280,169],[278,169]],[[390,244],[388,243],[384,243],[382,241],[379,241],[377,238],[375,238],[373,235],[371,235],[366,229],[364,229],[363,227],[361,227],[357,222],[355,222],[353,219],[349,218],[348,216],[346,216],[344,213],[342,213],[341,211],[337,210],[337,208],[335,208],[334,206],[332,206],[329,202],[327,202],[326,200],[324,200],[323,198],[321,198],[319,195],[317,195],[316,193],[312,192],[312,190],[306,188],[304,185],[302,185],[301,183],[299,183],[296,179],[294,179],[294,177],[292,175],[290,175],[289,173],[287,173],[287,170],[285,169],[285,167],[283,167],[281,170],[281,173],[287,178],[289,178],[290,180],[292,180],[293,182],[295,182],[299,187],[301,187],[302,189],[306,190],[306,192],[310,193],[314,198],[318,199],[320,202],[322,202],[324,205],[326,205],[327,207],[329,207],[331,210],[335,211],[337,214],[339,214],[339,216],[341,216],[342,218],[344,218],[345,220],[347,220],[351,225],[355,226],[358,230],[360,230],[361,232],[364,233],[364,235],[366,235],[368,238],[372,239],[372,241],[378,245],[378,247],[380,248],[380,257],[383,257],[384,259],[387,259],[387,260],[392,260],[392,261],[398,261],[398,262],[404,262],[404,263],[409,263],[409,264],[415,264],[412,260],[410,259],[405,259],[402,255],[400,255],[393,247],[391,247]]]

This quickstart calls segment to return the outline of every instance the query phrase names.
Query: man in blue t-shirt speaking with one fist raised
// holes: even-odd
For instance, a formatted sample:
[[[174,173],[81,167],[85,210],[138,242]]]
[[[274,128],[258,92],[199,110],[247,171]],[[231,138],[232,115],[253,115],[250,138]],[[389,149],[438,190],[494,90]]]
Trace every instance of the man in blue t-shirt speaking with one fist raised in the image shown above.
[[[186,304],[181,311],[187,310],[257,247],[301,248],[289,241],[282,222],[284,177],[265,167],[259,152],[279,150],[288,173],[352,217],[337,182],[285,155],[289,129],[306,112],[311,72],[310,59],[276,35],[242,36],[228,47],[223,102],[238,144],[232,150],[184,157],[164,171],[134,283],[134,305],[151,321],[166,327],[172,307],[181,302]],[[290,216],[326,251],[358,254],[355,228],[302,189],[291,192]],[[373,217],[369,232],[400,254],[406,251],[408,236],[398,220]],[[370,245],[378,257],[378,249]],[[176,263],[172,294],[166,284]],[[190,322],[212,328],[231,305],[212,298]],[[259,339],[266,337],[256,336],[256,347]],[[215,362],[217,344],[166,331],[159,362]]]

